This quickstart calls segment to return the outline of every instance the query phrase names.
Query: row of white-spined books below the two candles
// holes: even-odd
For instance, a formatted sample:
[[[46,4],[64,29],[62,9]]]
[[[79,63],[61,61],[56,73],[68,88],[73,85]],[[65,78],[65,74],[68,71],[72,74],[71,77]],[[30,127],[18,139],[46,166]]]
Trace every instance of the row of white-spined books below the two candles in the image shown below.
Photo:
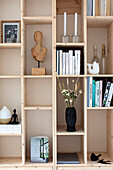
[[[80,50],[57,50],[56,72],[58,75],[80,75]]]

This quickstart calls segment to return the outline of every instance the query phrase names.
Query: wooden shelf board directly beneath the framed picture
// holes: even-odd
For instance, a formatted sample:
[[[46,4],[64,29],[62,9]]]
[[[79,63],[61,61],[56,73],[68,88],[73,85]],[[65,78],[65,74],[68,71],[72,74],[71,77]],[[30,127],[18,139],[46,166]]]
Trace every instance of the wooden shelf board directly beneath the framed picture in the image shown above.
[[[21,43],[0,43],[0,48],[21,48]]]

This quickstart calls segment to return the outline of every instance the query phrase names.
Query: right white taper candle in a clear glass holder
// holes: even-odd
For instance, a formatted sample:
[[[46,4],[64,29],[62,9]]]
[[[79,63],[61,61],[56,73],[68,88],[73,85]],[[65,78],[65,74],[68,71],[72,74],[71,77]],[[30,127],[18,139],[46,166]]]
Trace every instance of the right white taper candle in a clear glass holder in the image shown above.
[[[78,43],[78,42],[79,42],[79,37],[80,37],[80,35],[78,35],[77,26],[78,26],[78,15],[77,15],[77,13],[75,13],[75,33],[74,33],[74,35],[72,35],[72,37],[71,37],[71,41],[72,41],[73,43]]]

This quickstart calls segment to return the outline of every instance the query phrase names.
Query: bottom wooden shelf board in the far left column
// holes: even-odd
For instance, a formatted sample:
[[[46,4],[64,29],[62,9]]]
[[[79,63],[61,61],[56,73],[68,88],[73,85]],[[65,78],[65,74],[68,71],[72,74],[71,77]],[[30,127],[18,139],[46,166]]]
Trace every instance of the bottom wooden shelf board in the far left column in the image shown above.
[[[5,166],[21,166],[22,165],[22,158],[16,157],[8,157],[8,158],[0,158],[0,167]]]

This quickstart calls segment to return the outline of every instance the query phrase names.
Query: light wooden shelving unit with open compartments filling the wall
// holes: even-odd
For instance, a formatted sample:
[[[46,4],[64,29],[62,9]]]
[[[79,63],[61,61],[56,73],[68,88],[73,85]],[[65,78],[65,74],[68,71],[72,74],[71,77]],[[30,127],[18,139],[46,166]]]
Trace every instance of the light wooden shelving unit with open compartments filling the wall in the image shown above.
[[[105,160],[113,161],[113,106],[87,107],[87,77],[113,78],[113,16],[86,16],[86,4],[87,0],[0,1],[1,20],[21,20],[21,43],[0,43],[0,63],[4,66],[0,65],[0,108],[3,105],[8,105],[11,110],[16,108],[22,122],[22,134],[0,134],[1,170],[113,169],[113,162],[102,165],[90,160],[91,153],[95,152],[102,153]],[[73,35],[74,13],[80,14],[79,43],[61,43],[64,11],[68,13],[70,36]],[[37,30],[42,31],[43,45],[48,49],[42,64],[47,71],[44,76],[31,75],[32,67],[37,67],[31,54]],[[93,58],[93,43],[99,48],[102,43],[107,46],[109,68],[106,75],[87,73],[87,63]],[[82,49],[84,73],[57,75],[57,48]],[[98,55],[100,57],[100,51]],[[75,106],[77,131],[73,133],[66,131],[65,106],[57,81],[58,78],[66,81],[67,77],[70,80],[79,77],[83,89]],[[47,164],[31,163],[30,139],[42,135],[49,137],[50,160]],[[80,164],[57,164],[59,152],[77,152]]]

